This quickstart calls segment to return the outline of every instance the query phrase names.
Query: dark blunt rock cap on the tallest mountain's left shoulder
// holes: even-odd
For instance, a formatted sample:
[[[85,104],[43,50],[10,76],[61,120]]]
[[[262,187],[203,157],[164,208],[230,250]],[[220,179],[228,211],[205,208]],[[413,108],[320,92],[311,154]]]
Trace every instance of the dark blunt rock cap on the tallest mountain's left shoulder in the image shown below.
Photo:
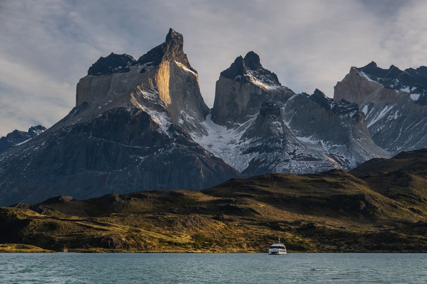
[[[99,57],[97,62],[89,67],[88,75],[100,76],[117,72],[128,72],[129,66],[135,62],[136,60],[126,53],[115,54],[111,52],[107,57]]]

